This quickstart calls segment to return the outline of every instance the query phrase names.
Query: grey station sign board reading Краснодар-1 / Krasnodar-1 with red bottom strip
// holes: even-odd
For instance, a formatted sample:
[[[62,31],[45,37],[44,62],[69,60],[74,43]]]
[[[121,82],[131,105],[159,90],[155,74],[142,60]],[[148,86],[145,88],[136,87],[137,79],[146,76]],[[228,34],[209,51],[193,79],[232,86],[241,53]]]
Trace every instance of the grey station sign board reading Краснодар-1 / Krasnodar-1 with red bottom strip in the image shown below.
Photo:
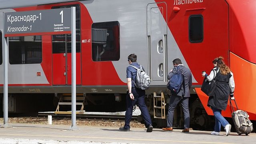
[[[71,8],[6,12],[5,37],[71,33]]]

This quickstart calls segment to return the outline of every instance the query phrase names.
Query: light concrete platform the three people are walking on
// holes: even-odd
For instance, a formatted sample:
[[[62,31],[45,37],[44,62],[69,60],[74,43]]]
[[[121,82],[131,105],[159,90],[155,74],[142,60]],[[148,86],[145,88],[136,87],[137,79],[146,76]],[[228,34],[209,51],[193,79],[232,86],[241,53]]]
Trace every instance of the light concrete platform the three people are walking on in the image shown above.
[[[2,124],[1,124],[2,126]],[[79,130],[70,131],[70,126],[10,124],[11,128],[0,128],[0,144],[255,144],[256,134],[238,136],[212,136],[209,131],[181,130],[164,132],[146,128],[131,128],[130,132],[119,131],[117,127],[78,126]]]

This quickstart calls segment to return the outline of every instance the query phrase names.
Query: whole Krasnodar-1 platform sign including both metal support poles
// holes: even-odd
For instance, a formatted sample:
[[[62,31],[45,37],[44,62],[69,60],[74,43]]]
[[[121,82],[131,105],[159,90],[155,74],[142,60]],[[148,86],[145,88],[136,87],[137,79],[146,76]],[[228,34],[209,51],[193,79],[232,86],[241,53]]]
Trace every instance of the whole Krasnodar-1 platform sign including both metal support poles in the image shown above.
[[[72,37],[72,125],[76,126],[76,8],[3,13],[4,126],[8,127],[8,37],[70,34]]]

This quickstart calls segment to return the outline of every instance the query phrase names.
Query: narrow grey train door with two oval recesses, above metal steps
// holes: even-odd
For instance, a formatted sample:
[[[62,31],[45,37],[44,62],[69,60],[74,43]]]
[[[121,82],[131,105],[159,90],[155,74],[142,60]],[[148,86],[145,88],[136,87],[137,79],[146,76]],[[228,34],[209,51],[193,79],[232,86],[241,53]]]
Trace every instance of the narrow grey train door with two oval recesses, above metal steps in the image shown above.
[[[148,73],[152,84],[166,82],[166,3],[147,6]]]

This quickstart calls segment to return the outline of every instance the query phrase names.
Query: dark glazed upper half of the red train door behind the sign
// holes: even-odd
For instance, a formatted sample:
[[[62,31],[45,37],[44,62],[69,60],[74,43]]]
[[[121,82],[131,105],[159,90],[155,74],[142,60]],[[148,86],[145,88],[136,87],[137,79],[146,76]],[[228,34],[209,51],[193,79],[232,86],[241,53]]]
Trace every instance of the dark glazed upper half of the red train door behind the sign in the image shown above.
[[[80,38],[80,6],[69,5],[69,6],[55,6],[55,8],[70,8],[71,6],[76,7],[76,52],[81,52],[81,38]],[[67,49],[67,50],[66,50]],[[52,53],[71,53],[71,34],[57,34],[52,35]]]

